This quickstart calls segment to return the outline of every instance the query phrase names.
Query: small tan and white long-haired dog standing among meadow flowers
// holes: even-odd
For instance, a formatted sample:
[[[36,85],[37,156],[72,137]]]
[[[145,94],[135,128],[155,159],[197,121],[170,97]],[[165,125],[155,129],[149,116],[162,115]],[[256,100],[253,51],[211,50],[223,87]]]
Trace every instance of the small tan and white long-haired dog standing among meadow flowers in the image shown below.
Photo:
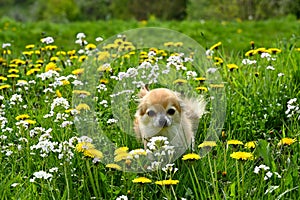
[[[142,88],[135,114],[134,130],[147,147],[154,136],[165,136],[174,147],[188,149],[194,143],[194,132],[205,112],[203,98],[188,99],[165,88]]]

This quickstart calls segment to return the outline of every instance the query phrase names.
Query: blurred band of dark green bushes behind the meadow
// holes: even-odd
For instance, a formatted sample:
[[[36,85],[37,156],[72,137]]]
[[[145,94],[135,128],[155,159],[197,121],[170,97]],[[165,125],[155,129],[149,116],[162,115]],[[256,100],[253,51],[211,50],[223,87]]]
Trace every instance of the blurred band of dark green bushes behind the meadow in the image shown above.
[[[0,0],[0,16],[22,22],[264,20],[300,18],[300,0]]]

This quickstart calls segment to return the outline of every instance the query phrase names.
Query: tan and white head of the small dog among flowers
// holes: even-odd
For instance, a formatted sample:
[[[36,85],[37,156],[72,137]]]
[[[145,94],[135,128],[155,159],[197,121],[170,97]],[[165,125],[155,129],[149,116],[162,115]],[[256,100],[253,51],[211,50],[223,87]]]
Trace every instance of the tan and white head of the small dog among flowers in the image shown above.
[[[139,97],[141,101],[136,117],[140,128],[147,134],[146,138],[180,124],[182,108],[178,94],[164,88],[143,89]]]

